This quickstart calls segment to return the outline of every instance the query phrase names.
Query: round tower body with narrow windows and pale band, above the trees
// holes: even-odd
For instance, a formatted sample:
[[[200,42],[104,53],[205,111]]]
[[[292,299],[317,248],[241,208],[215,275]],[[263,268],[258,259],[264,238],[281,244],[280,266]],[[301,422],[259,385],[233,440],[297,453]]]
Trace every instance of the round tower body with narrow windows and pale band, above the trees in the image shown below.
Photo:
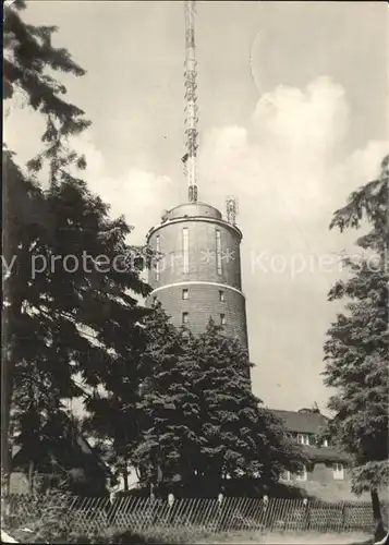
[[[241,240],[238,227],[212,206],[189,203],[169,210],[147,234],[161,254],[149,272],[147,303],[160,301],[174,326],[194,335],[204,332],[211,317],[247,348]]]

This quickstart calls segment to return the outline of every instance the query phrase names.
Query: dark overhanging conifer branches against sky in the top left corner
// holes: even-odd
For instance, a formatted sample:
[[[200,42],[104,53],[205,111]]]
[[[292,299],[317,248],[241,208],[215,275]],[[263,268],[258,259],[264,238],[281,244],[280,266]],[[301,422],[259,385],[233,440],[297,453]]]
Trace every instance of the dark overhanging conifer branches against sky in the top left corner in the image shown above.
[[[34,26],[23,21],[21,11],[25,7],[23,0],[4,5],[3,98],[22,94],[27,106],[44,116],[46,131],[41,141],[46,149],[29,166],[39,171],[47,160],[51,177],[58,179],[65,177],[62,169],[72,162],[85,168],[85,157],[70,149],[65,140],[80,134],[90,122],[82,109],[64,99],[66,87],[56,75],[83,76],[85,70],[66,49],[52,46],[56,26]]]

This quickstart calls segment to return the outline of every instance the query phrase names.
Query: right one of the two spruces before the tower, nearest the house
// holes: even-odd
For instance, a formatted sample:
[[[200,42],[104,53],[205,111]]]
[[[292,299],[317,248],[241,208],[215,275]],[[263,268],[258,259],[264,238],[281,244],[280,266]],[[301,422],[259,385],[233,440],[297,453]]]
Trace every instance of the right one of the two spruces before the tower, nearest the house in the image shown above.
[[[278,481],[302,461],[278,419],[251,390],[248,354],[238,339],[209,322],[198,337],[196,391],[202,404],[202,473],[219,482],[230,477]]]

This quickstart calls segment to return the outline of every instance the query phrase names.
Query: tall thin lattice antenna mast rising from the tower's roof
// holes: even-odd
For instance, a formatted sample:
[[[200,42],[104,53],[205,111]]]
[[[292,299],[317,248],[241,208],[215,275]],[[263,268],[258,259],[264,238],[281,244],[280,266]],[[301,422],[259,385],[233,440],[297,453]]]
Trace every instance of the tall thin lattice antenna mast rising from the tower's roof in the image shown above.
[[[195,2],[185,1],[185,134],[186,134],[186,177],[189,184],[189,199],[197,202],[197,96],[196,96],[196,45],[195,45]]]

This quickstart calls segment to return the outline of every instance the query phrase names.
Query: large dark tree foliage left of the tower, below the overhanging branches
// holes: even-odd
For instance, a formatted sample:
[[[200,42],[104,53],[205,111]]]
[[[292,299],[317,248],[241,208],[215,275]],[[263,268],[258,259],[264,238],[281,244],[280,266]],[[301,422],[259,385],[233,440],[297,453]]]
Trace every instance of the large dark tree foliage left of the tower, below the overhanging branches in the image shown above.
[[[144,311],[132,293],[148,289],[139,277],[143,263],[134,262],[135,250],[125,242],[130,228],[122,218],[110,220],[108,207],[84,183],[62,182],[39,196],[51,226],[20,227],[21,262],[7,280],[15,296],[5,308],[13,401],[24,419],[29,414],[31,429],[42,427],[63,398],[95,399],[85,387],[102,384],[110,391],[116,384],[117,393],[133,391],[122,377],[136,373]],[[78,266],[66,269],[56,256],[71,256],[71,267]],[[109,267],[99,265],[101,256]]]

